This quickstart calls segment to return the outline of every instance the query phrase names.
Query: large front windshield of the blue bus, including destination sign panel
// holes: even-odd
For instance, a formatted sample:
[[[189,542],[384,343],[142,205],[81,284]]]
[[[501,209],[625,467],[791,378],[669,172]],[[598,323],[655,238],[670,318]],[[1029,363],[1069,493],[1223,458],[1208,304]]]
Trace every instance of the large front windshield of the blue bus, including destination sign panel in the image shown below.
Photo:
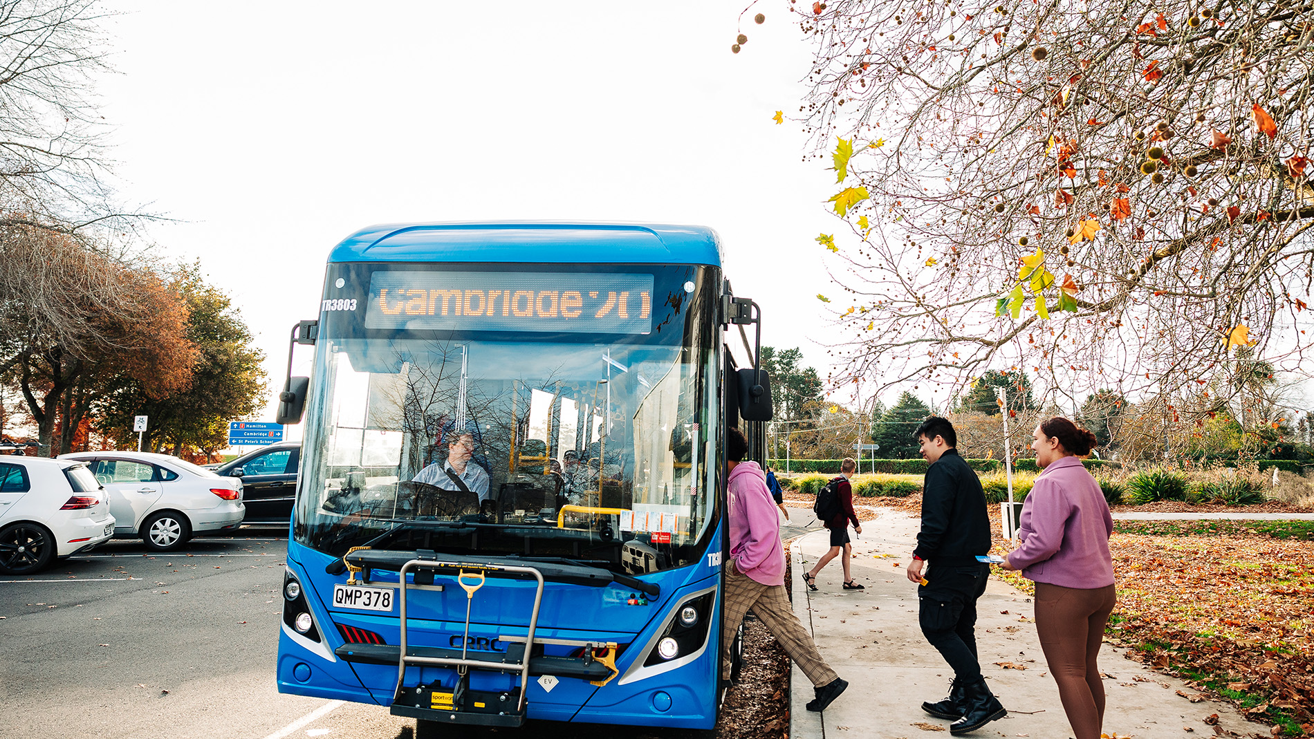
[[[331,264],[297,541],[643,574],[716,516],[704,266]]]

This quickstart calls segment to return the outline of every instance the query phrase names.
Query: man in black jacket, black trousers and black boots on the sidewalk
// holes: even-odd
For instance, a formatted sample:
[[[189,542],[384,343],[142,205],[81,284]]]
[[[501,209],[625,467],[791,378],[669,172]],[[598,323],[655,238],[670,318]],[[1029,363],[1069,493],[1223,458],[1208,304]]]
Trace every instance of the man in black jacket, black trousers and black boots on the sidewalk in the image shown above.
[[[989,551],[986,495],[976,473],[958,455],[958,434],[947,419],[930,416],[913,433],[930,466],[908,579],[920,583],[921,633],[954,668],[949,697],[924,702],[921,709],[953,721],[950,734],[967,734],[1008,715],[986,685],[976,659],[976,599],[989,578],[989,564],[976,559]],[[930,570],[924,579],[926,562]]]

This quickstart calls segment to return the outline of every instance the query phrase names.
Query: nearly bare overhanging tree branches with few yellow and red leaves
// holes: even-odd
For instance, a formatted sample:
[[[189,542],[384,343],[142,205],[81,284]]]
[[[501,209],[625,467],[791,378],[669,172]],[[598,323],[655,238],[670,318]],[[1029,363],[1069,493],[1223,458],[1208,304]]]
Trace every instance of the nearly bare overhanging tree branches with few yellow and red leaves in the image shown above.
[[[962,389],[1007,366],[1075,406],[1208,382],[1235,347],[1301,369],[1307,3],[791,8],[816,53],[788,118],[853,230],[817,238],[842,260],[823,297],[862,336],[842,375]]]

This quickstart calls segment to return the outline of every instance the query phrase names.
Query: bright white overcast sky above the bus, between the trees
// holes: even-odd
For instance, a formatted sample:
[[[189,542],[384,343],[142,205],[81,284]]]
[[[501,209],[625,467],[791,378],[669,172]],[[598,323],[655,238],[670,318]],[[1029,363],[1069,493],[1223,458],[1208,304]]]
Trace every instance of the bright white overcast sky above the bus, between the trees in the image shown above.
[[[198,257],[267,354],[259,420],[328,249],[385,222],[711,226],[763,343],[825,375],[834,173],[771,121],[809,47],[762,3],[731,54],[744,5],[112,0],[99,92],[124,198],[176,219],[150,227],[163,257]]]

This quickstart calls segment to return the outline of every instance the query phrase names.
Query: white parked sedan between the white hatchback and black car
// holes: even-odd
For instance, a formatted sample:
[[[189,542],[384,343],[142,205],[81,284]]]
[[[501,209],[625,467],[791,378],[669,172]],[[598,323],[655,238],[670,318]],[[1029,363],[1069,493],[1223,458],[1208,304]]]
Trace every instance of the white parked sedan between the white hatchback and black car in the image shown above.
[[[114,536],[141,538],[148,549],[175,550],[193,536],[222,534],[242,525],[242,480],[168,454],[75,452],[109,494]]]

